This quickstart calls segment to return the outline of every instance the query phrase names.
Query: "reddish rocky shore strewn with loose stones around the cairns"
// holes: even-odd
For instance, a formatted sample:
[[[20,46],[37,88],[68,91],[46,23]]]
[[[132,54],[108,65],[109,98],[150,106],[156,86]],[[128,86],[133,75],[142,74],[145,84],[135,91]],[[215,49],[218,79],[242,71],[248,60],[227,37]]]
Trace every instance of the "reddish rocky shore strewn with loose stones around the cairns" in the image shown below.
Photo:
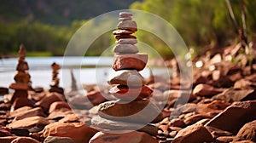
[[[256,50],[252,45],[247,50],[239,43],[196,57],[192,93],[189,87],[180,88],[178,77],[148,77],[146,84],[154,89],[151,100],[164,106],[162,114],[157,123],[125,134],[103,133],[91,126],[98,105],[107,101],[105,97],[113,99],[110,87],[84,85],[87,94],[73,91],[66,96],[35,88],[29,91],[29,106],[22,99],[10,104],[12,94],[1,88],[0,142],[256,142]],[[175,104],[183,98],[188,103]]]

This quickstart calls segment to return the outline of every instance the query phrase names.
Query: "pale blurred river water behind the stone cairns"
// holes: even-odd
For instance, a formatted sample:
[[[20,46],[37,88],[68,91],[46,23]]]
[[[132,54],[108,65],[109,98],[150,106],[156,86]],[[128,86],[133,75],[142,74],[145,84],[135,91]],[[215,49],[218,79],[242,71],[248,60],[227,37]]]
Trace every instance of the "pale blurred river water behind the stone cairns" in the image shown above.
[[[28,72],[31,75],[32,87],[49,88],[52,72],[50,65],[53,62],[62,67],[58,77],[61,79],[60,86],[63,88],[71,86],[71,69],[73,69],[77,84],[107,84],[108,75],[113,72],[111,68],[113,57],[27,57],[26,61],[30,67]],[[0,87],[9,87],[10,83],[15,82],[17,63],[17,58],[0,60]],[[154,74],[166,74],[166,71],[161,68],[151,68],[150,70]],[[149,76],[148,68],[140,73],[143,77]]]

